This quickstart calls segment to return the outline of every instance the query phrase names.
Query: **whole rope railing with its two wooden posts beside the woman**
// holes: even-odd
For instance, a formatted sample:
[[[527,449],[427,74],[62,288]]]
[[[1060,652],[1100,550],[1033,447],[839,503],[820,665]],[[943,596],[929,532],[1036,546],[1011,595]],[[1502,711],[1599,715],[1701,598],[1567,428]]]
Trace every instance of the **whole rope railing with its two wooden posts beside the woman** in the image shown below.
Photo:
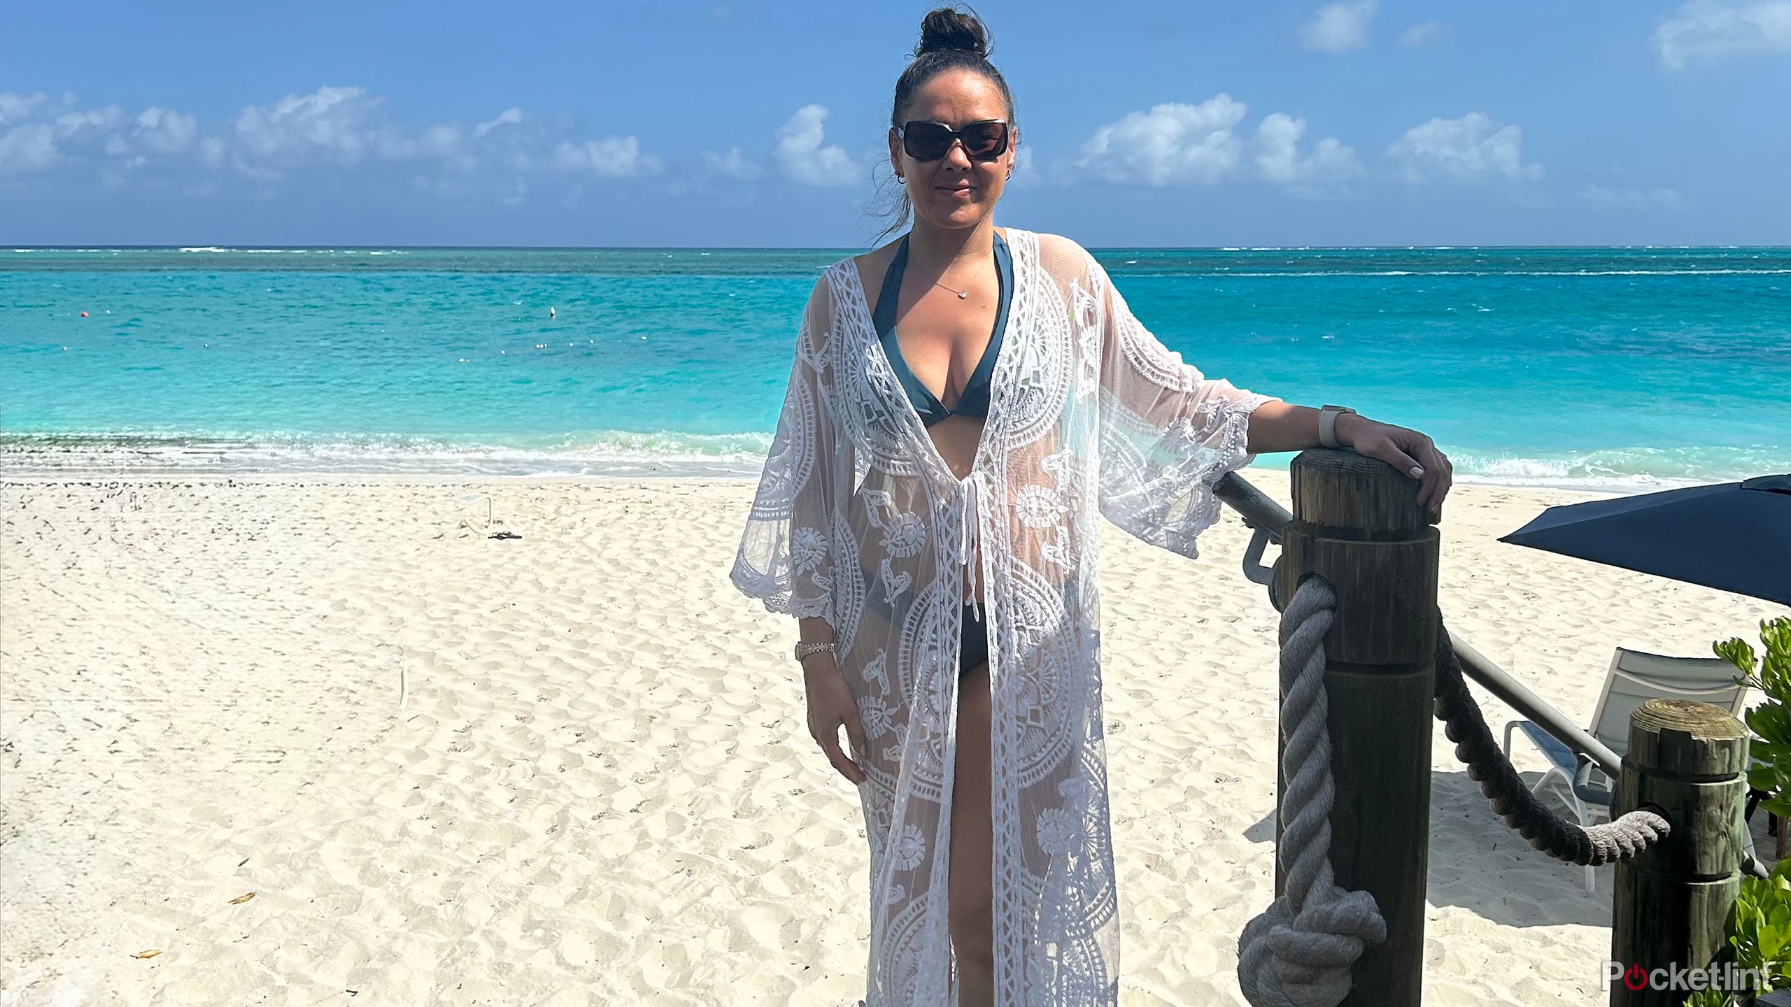
[[[1216,487],[1255,530],[1245,575],[1282,611],[1277,898],[1238,941],[1248,1003],[1420,1002],[1433,717],[1512,831],[1560,862],[1617,865],[1612,960],[1714,960],[1710,921],[1727,912],[1723,892],[1734,898],[1725,885],[1737,862],[1764,874],[1723,824],[1741,822],[1746,727],[1707,704],[1650,701],[1630,719],[1630,758],[1617,760],[1447,631],[1438,532],[1381,468],[1341,452],[1302,455],[1297,521],[1236,473]],[[1282,555],[1263,566],[1270,541]],[[1585,826],[1542,803],[1495,744],[1467,677],[1581,753],[1583,770],[1621,779],[1628,810]]]

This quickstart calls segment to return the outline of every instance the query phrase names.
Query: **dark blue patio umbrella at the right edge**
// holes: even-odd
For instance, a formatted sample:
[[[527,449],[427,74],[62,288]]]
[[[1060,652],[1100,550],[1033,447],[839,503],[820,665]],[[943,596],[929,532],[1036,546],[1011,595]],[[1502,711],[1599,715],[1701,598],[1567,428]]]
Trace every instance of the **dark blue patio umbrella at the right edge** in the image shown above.
[[[1791,606],[1791,475],[1549,507],[1499,541]]]

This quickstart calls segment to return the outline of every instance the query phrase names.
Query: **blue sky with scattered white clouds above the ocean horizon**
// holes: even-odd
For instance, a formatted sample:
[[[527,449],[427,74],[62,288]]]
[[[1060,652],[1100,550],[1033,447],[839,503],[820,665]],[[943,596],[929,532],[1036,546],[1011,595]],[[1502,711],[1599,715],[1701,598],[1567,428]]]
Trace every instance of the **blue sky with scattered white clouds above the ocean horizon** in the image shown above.
[[[861,247],[931,4],[0,5],[0,242]],[[1791,0],[976,4],[996,222],[1791,244]]]

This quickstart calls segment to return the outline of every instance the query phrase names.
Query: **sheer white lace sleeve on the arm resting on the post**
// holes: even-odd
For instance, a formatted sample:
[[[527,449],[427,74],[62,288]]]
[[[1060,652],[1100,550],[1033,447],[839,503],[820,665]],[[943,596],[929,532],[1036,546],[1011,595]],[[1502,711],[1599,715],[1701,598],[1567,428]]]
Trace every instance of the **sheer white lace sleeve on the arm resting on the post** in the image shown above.
[[[1250,412],[1273,400],[1184,364],[1132,315],[1094,256],[1087,265],[1100,312],[1101,514],[1195,557],[1195,538],[1220,516],[1213,484],[1255,457],[1245,452]]]

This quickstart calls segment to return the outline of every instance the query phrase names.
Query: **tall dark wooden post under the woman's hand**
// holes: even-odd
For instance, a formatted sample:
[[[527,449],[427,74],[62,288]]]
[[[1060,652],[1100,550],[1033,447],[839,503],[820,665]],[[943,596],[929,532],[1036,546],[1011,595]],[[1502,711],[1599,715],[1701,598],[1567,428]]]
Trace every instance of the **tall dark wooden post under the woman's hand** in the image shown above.
[[[1293,521],[1281,541],[1279,597],[1291,598],[1309,573],[1338,593],[1325,634],[1336,776],[1331,865],[1340,887],[1372,894],[1386,919],[1386,941],[1356,962],[1343,1003],[1417,1007],[1431,840],[1438,536],[1417,505],[1418,484],[1384,462],[1309,450],[1291,469]],[[1277,772],[1277,806],[1281,787]],[[1277,858],[1277,894],[1282,882]]]

